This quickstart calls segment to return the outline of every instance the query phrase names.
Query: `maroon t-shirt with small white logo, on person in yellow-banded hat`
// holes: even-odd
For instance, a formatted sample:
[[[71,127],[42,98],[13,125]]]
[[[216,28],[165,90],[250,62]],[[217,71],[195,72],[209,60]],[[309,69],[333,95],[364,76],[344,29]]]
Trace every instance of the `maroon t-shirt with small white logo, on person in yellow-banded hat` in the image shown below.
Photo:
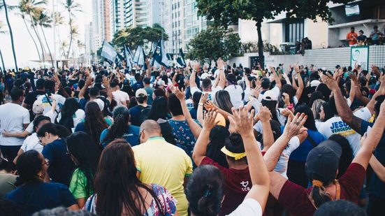
[[[219,168],[224,175],[224,201],[219,215],[229,215],[242,203],[247,192],[252,189],[249,168],[236,170],[220,166],[209,157],[205,157],[201,165],[210,164]]]

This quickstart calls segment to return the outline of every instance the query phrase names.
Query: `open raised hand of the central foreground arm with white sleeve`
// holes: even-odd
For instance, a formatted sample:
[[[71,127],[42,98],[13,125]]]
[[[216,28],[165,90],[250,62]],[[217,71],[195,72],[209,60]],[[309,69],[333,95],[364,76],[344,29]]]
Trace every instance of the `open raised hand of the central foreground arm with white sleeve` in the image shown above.
[[[235,108],[231,108],[233,111],[233,117],[235,120],[235,130],[240,134],[240,136],[249,136],[253,134],[253,117],[254,110],[247,112],[247,109],[244,106],[241,106],[239,110],[235,110]]]

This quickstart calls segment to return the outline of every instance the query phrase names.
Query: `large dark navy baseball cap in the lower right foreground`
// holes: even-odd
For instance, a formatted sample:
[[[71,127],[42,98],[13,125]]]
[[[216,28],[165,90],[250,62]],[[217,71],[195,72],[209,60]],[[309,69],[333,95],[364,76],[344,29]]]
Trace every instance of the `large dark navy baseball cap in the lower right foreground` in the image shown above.
[[[319,143],[307,154],[307,176],[322,182],[333,180],[340,164],[341,154],[342,148],[337,142],[326,140]]]

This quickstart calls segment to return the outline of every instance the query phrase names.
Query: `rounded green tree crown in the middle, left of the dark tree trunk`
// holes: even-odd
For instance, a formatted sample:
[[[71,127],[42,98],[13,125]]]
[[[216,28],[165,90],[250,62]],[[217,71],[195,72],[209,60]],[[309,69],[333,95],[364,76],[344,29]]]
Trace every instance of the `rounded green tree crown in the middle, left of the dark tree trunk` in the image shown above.
[[[239,35],[231,30],[209,27],[191,39],[187,57],[208,62],[219,57],[230,59],[240,55],[241,45]]]

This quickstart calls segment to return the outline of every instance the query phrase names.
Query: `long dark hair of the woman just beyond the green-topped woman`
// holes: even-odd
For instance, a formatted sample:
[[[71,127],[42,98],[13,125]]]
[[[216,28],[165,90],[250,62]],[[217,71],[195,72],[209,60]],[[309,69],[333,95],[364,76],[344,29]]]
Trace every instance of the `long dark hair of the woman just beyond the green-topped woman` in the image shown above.
[[[85,106],[85,129],[89,132],[94,143],[99,145],[99,138],[101,132],[108,128],[106,120],[104,120],[103,113],[98,106],[98,103],[89,101]]]

